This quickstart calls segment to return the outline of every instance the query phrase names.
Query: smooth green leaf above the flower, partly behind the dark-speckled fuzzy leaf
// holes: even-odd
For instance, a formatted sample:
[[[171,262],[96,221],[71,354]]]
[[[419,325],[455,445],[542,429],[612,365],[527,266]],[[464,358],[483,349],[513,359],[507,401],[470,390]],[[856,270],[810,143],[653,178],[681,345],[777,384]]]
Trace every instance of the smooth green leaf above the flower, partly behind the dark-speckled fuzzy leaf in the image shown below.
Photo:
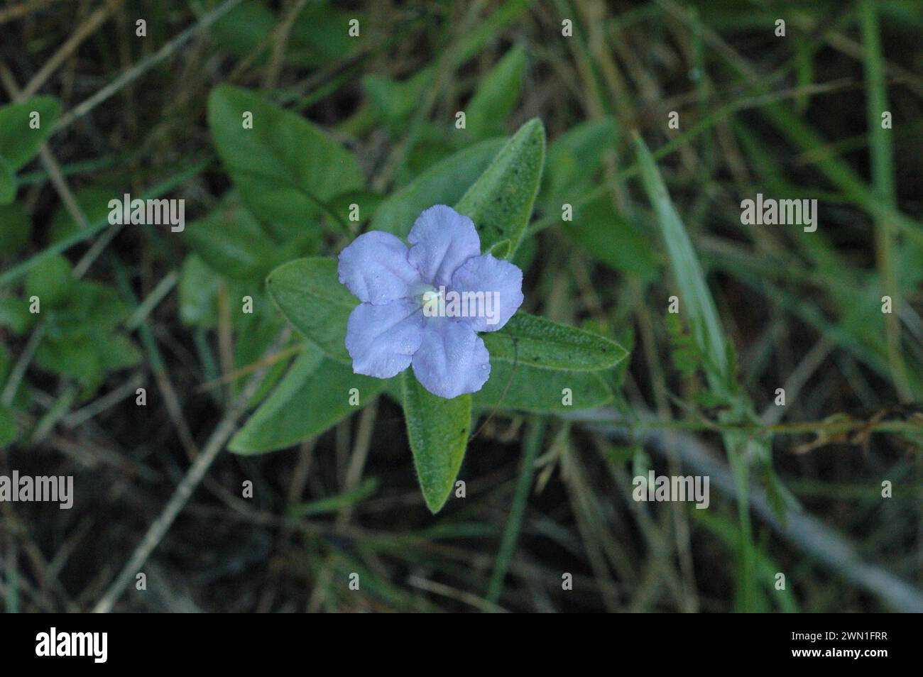
[[[369,230],[406,238],[424,209],[454,205],[462,199],[468,187],[497,157],[503,144],[503,139],[498,138],[482,141],[439,161],[378,205]]]

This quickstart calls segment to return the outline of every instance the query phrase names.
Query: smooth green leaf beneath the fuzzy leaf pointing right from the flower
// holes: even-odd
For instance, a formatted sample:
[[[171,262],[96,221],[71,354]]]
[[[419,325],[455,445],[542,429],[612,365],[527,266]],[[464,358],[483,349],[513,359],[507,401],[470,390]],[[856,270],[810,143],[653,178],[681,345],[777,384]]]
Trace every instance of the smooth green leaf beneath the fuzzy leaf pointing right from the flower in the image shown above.
[[[565,388],[570,389],[570,404],[565,404]],[[612,393],[596,372],[539,369],[492,360],[490,378],[472,399],[478,409],[555,413],[601,407],[612,399]]]

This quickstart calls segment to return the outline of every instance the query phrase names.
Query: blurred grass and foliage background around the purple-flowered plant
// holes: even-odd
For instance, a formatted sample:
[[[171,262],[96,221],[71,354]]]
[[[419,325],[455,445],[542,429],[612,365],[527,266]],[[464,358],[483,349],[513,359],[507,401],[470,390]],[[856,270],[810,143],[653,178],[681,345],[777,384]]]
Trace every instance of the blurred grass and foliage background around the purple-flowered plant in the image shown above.
[[[0,505],[6,611],[920,611],[921,34],[912,0],[0,6],[0,471],[77,491]],[[242,146],[238,102],[288,131]],[[264,279],[405,235],[535,117],[524,308],[631,355],[509,381],[546,391],[495,362],[433,517],[400,393],[330,410],[355,377]],[[185,231],[110,227],[125,193],[185,199]],[[817,198],[817,232],[742,226],[756,193]],[[548,404],[568,386],[593,410]],[[222,451],[113,595],[242,394],[285,450]],[[648,469],[712,472],[710,508],[635,503]]]

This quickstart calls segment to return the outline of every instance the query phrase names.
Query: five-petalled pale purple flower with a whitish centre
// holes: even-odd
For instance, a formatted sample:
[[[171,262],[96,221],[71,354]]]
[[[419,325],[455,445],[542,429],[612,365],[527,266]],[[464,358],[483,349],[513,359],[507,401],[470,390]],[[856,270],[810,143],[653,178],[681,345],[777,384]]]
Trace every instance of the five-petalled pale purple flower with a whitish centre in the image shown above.
[[[413,364],[434,395],[477,392],[490,355],[475,332],[496,331],[517,311],[522,271],[481,255],[472,220],[445,205],[424,210],[407,241],[371,231],[340,253],[340,281],[362,302],[346,326],[353,371],[390,378]]]

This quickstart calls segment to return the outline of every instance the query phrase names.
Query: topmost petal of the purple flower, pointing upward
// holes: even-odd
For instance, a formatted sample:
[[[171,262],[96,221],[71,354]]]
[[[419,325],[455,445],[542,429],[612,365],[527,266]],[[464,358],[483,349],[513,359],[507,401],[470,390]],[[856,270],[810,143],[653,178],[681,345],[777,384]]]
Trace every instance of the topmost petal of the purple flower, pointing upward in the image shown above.
[[[425,209],[414,221],[407,242],[413,245],[407,259],[434,287],[448,287],[456,268],[481,254],[473,221],[445,205]]]

